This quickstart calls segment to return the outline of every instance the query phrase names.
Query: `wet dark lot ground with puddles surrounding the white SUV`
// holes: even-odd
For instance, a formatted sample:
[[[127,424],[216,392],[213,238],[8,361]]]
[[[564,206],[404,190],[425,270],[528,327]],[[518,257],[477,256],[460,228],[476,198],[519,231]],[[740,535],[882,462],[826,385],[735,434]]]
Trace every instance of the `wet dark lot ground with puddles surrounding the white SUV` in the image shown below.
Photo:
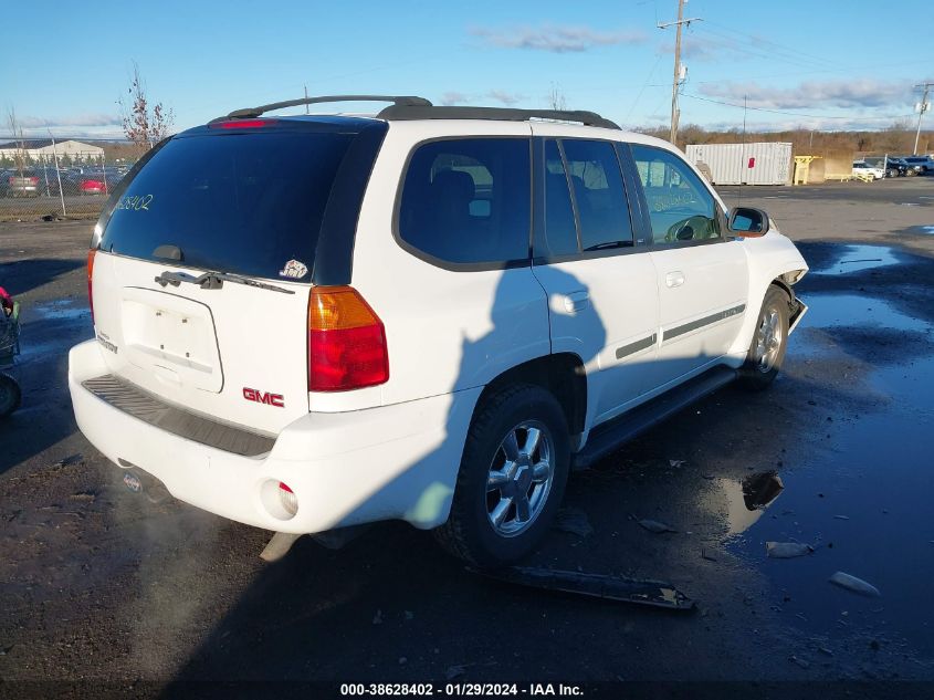
[[[305,537],[266,565],[269,533],[128,493],[66,390],[67,347],[92,335],[92,223],[0,223],[0,284],[24,321],[23,406],[0,424],[0,696],[175,697],[200,680],[934,691],[934,178],[742,200],[812,268],[783,375],[762,394],[727,387],[576,474],[566,506],[592,533],[555,531],[528,562],[667,579],[697,602],[688,614],[480,578],[400,523],[340,551]],[[769,540],[815,551],[767,558]],[[882,596],[831,585],[836,571]]]

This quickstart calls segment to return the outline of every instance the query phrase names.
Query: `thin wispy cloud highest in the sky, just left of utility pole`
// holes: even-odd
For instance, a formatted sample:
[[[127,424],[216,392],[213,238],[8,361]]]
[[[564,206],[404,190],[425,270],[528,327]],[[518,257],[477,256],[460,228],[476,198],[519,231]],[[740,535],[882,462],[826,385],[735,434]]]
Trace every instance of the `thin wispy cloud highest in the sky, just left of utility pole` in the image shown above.
[[[579,53],[595,46],[634,44],[646,41],[646,34],[638,31],[598,32],[587,27],[543,24],[538,28],[510,27],[489,29],[475,27],[470,30],[486,44],[502,49],[527,49],[550,53]]]

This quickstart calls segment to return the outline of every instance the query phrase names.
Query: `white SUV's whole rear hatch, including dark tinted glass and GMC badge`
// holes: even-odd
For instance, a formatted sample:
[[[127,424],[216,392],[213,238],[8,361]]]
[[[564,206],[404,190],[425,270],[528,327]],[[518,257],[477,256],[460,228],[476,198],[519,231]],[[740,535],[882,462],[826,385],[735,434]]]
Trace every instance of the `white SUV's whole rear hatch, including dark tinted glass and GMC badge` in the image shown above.
[[[153,153],[98,228],[93,311],[111,374],[256,432],[306,414],[316,261],[349,276],[385,129],[366,119],[221,122]]]

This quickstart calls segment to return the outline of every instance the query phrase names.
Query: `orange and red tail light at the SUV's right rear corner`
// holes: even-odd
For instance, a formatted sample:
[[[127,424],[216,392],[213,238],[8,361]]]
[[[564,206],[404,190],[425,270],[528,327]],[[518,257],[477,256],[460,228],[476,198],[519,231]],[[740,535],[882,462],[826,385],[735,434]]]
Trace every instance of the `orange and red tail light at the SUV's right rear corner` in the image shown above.
[[[386,328],[351,286],[315,286],[308,300],[308,390],[348,391],[389,379]]]

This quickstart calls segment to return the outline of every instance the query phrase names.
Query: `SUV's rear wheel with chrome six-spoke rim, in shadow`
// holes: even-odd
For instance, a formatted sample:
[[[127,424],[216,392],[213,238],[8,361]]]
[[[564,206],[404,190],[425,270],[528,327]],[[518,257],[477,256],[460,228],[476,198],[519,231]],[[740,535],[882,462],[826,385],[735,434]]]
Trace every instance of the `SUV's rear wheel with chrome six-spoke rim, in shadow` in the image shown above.
[[[438,541],[482,568],[517,562],[550,527],[569,463],[567,422],[552,394],[518,385],[485,399],[468,431]]]

